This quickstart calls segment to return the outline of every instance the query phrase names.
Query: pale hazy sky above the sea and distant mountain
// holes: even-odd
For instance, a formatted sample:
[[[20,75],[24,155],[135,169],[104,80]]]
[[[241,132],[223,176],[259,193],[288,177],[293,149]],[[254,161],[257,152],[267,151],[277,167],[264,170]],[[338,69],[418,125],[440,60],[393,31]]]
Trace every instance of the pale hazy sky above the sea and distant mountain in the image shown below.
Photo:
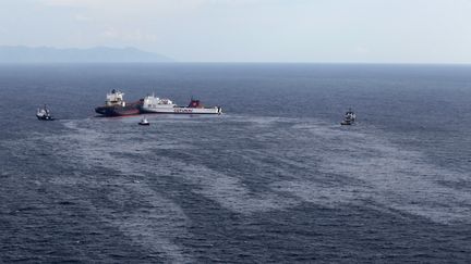
[[[471,0],[0,0],[0,45],[178,61],[471,63]]]

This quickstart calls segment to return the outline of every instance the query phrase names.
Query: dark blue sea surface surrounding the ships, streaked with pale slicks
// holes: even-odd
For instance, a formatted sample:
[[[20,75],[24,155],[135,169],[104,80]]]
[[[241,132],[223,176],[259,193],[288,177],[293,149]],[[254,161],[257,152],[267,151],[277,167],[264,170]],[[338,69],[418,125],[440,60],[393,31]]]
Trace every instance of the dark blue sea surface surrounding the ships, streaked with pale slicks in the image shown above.
[[[0,262],[471,261],[471,66],[0,65]]]

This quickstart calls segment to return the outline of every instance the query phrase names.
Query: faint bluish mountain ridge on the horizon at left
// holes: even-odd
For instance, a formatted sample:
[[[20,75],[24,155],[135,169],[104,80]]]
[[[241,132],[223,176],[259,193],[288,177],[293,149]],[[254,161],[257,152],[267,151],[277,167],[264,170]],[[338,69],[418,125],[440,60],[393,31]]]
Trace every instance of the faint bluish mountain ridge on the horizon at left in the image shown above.
[[[165,55],[135,48],[96,47],[89,49],[58,49],[50,47],[0,46],[0,63],[52,62],[171,62]]]

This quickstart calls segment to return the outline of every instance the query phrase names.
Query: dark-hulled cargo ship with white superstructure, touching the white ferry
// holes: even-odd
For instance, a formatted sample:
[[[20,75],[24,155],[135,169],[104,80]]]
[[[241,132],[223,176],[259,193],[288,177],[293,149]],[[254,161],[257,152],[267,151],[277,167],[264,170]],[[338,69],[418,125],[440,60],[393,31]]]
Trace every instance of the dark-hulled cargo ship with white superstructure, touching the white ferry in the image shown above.
[[[95,112],[105,116],[122,116],[122,115],[134,115],[140,114],[143,99],[126,103],[123,100],[124,92],[112,89],[111,92],[107,93],[107,100],[105,106],[98,106]]]

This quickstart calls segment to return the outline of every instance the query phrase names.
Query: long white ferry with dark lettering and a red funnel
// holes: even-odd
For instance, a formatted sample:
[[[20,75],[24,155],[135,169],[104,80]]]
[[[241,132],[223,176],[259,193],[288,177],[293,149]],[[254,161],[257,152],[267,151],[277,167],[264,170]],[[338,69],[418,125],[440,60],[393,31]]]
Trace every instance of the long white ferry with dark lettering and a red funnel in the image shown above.
[[[141,108],[144,113],[159,114],[221,114],[221,106],[204,106],[200,100],[191,99],[188,106],[179,106],[170,99],[147,96],[143,100]]]

